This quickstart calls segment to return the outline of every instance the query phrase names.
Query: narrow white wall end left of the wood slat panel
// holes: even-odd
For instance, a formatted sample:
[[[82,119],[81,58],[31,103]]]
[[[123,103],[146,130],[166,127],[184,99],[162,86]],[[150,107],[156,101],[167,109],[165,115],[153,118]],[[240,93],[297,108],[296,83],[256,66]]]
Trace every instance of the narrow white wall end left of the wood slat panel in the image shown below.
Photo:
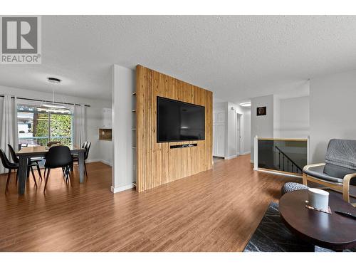
[[[132,188],[135,160],[132,147],[134,120],[132,103],[135,92],[135,71],[118,65],[112,66],[112,140],[114,141],[114,165],[111,191],[116,193]]]

